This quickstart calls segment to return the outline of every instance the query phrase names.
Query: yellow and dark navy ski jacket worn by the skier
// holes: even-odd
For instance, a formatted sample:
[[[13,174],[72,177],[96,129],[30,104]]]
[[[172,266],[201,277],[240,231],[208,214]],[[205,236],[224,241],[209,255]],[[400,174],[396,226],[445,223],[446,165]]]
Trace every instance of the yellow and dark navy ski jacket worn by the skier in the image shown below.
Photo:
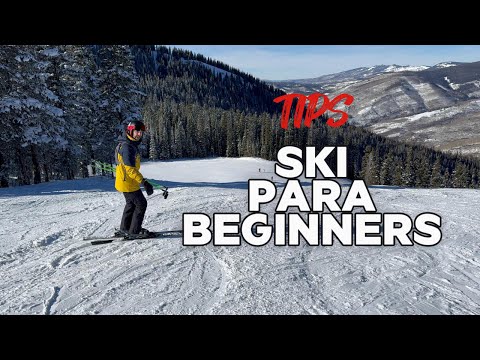
[[[120,192],[140,190],[143,175],[140,173],[140,141],[134,141],[127,135],[121,138],[115,149],[117,169],[115,172],[115,189]]]

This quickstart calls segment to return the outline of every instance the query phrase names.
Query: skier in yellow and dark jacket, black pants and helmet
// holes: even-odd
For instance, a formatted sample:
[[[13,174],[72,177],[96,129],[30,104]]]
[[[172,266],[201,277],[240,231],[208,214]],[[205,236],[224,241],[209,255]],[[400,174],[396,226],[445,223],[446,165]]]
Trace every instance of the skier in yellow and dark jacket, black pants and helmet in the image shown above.
[[[140,152],[138,146],[141,143],[145,125],[139,120],[131,121],[126,128],[125,134],[119,138],[115,149],[115,161],[117,163],[115,189],[123,193],[126,200],[123,210],[121,233],[148,237],[150,232],[142,228],[143,218],[147,210],[147,200],[140,190],[143,184],[147,195],[153,194],[153,186],[144,179],[140,173]]]

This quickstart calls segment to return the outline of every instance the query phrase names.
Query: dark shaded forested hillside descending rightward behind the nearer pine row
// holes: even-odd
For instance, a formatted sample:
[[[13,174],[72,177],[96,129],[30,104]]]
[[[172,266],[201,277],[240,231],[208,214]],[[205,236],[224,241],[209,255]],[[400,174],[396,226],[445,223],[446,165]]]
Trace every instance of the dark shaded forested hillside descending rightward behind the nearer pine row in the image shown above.
[[[143,89],[157,100],[245,113],[281,111],[283,91],[214,59],[166,46],[132,46]]]

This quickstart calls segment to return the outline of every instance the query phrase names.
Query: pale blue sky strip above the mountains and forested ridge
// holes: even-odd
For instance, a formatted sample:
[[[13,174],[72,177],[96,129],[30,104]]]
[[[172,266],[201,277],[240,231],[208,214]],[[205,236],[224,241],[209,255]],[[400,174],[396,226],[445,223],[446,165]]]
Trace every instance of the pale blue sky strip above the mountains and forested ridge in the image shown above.
[[[362,66],[480,61],[480,45],[167,45],[263,80],[313,78]]]

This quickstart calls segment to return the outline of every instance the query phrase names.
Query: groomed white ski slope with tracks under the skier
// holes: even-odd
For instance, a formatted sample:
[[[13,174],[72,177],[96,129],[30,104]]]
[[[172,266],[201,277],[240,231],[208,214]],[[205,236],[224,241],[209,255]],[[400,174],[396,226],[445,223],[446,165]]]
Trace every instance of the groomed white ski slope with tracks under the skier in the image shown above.
[[[160,191],[148,198],[144,226],[181,229],[184,212],[243,219],[248,179],[284,182],[273,168],[252,158],[143,164],[146,177],[170,187],[168,199]],[[311,187],[304,189],[310,198]],[[92,246],[82,237],[109,235],[121,218],[113,179],[0,189],[0,313],[479,314],[480,192],[370,191],[378,212],[441,215],[442,241],[184,247],[181,238],[165,238]],[[276,203],[261,211],[273,214]]]

